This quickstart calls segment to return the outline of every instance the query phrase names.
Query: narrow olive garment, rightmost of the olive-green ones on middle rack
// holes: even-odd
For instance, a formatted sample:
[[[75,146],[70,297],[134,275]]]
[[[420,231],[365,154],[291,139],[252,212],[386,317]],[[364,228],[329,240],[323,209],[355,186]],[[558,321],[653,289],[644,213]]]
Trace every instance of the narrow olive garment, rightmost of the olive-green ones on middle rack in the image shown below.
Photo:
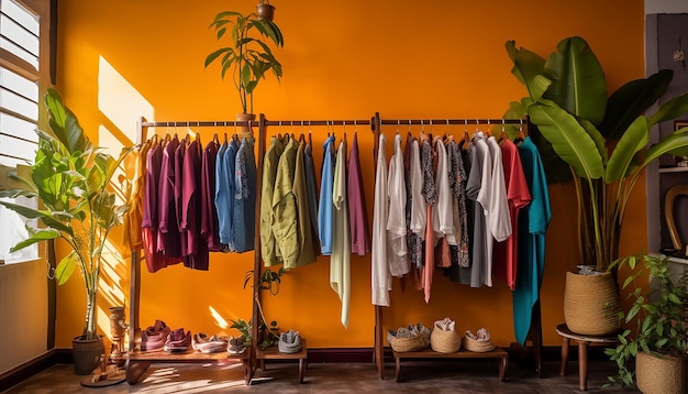
[[[306,186],[306,166],[304,166],[306,142],[299,141],[296,156],[296,169],[293,175],[293,196],[297,204],[297,225],[299,258],[295,266],[287,266],[285,270],[296,266],[310,264],[315,261],[315,244],[313,243],[313,230],[311,227],[311,211],[308,207],[308,188]]]

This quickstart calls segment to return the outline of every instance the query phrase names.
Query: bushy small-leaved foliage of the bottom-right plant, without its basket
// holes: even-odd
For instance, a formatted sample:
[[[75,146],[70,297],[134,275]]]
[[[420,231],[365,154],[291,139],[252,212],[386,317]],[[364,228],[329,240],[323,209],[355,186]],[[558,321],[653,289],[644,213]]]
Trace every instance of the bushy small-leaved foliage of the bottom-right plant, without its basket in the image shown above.
[[[686,357],[688,341],[688,324],[686,307],[688,306],[688,273],[684,273],[675,283],[668,267],[666,255],[628,256],[614,261],[614,266],[628,267],[631,275],[623,282],[622,288],[630,289],[626,299],[631,299],[630,309],[621,311],[619,318],[625,324],[635,322],[635,333],[625,329],[619,335],[620,344],[606,349],[604,353],[617,362],[618,375],[609,376],[608,385],[633,385],[635,371],[629,368],[639,351],[654,354]],[[645,270],[656,287],[655,294],[644,295],[639,278],[647,277]]]

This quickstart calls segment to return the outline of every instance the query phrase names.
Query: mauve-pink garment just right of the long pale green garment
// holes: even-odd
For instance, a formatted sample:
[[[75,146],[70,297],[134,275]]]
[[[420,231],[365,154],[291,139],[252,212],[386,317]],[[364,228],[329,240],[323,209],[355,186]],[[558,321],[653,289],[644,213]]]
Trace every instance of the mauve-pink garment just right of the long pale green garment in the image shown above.
[[[348,215],[351,223],[352,253],[365,255],[370,251],[368,237],[368,215],[366,214],[366,195],[363,188],[363,175],[358,160],[358,135],[354,133],[352,149],[348,154]]]

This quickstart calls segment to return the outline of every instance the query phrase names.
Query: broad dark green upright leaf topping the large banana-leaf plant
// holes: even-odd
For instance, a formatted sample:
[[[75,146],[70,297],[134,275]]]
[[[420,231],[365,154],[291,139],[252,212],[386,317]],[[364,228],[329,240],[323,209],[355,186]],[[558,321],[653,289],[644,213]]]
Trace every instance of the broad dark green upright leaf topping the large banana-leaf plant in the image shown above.
[[[588,43],[578,36],[562,40],[545,63],[552,85],[544,94],[564,110],[600,124],[607,107],[604,70]]]

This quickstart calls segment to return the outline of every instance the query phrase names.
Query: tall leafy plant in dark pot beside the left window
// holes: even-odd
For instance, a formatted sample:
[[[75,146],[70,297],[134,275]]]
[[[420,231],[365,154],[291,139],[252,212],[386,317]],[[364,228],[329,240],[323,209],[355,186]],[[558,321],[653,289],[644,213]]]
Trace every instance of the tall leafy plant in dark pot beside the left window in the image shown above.
[[[58,285],[64,284],[76,269],[84,280],[86,318],[84,330],[73,343],[75,372],[89,374],[103,353],[96,313],[101,255],[110,230],[122,222],[127,208],[115,203],[109,184],[126,150],[115,160],[95,146],[55,89],[48,89],[44,103],[51,130],[36,130],[38,146],[31,177],[16,177],[22,188],[2,193],[2,197],[37,197],[42,208],[0,204],[43,225],[31,229],[30,238],[12,251],[55,239],[69,245],[70,252],[55,269],[55,280]],[[81,350],[81,342],[87,350]]]

